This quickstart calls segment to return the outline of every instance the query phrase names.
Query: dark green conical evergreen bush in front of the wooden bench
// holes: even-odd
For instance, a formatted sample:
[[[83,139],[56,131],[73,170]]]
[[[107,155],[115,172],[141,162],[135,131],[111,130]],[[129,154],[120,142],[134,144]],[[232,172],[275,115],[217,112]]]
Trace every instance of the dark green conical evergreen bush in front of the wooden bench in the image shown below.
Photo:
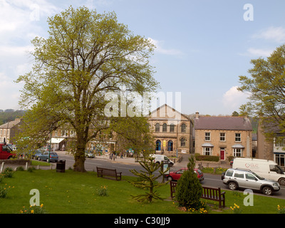
[[[195,167],[194,157],[189,158],[187,166],[188,170],[183,172],[177,182],[176,199],[180,207],[199,209],[202,185],[195,172],[193,172]]]

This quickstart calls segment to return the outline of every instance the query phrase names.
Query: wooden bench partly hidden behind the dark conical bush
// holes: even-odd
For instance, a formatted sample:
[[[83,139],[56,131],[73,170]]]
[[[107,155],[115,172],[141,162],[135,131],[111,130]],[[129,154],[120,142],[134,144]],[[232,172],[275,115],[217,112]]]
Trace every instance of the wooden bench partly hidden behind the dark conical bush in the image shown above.
[[[175,187],[177,182],[170,181],[170,197],[173,199],[175,195]],[[219,208],[225,207],[225,194],[226,192],[221,192],[221,188],[213,188],[213,187],[202,187],[202,199],[210,199],[219,202]],[[223,204],[222,204],[223,203]]]

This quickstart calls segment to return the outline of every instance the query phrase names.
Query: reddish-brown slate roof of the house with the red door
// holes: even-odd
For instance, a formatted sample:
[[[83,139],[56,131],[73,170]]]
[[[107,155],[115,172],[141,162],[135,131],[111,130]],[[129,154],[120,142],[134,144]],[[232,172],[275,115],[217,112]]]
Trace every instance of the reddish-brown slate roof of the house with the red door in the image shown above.
[[[197,130],[252,130],[248,118],[232,116],[199,116],[195,118],[194,128]]]

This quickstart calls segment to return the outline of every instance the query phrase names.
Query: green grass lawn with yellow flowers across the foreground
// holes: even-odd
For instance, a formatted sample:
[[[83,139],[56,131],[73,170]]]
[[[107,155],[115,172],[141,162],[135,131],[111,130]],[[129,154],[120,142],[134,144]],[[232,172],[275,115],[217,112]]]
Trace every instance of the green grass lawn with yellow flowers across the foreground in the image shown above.
[[[40,203],[47,213],[185,213],[177,209],[177,202],[155,200],[152,203],[136,202],[130,195],[143,192],[133,187],[127,180],[135,177],[123,176],[123,181],[97,177],[95,172],[79,173],[72,170],[34,170],[16,171],[13,177],[4,178],[0,187],[6,187],[8,193],[0,198],[0,213],[20,213],[23,207],[29,207],[30,190],[40,192]],[[108,187],[108,196],[97,194],[100,187]],[[158,190],[161,197],[169,199],[169,185]],[[254,207],[243,205],[244,195],[227,191],[226,206],[222,212],[210,210],[209,213],[232,213],[230,206],[238,204],[243,213],[276,213],[277,205],[285,206],[284,199],[275,199],[254,195]],[[214,204],[214,202],[209,202]],[[217,204],[217,203],[216,203]],[[215,207],[214,207],[215,208]]]

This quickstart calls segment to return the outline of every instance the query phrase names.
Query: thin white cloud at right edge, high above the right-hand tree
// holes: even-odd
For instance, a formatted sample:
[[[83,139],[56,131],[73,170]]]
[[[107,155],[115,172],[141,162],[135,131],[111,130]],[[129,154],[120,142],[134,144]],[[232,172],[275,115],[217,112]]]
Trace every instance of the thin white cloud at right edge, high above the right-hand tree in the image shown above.
[[[282,27],[269,27],[265,28],[259,33],[255,33],[253,38],[263,38],[268,41],[274,41],[276,43],[284,43],[285,42],[285,28]]]

